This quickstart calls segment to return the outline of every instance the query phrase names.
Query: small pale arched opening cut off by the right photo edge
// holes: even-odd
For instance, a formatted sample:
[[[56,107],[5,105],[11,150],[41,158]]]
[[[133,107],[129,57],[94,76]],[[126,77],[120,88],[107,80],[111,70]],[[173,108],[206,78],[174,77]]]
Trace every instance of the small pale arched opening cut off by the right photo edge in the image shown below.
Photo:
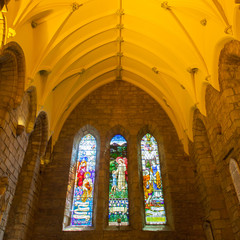
[[[240,170],[237,161],[233,158],[229,161],[229,171],[232,177],[232,182],[235,188],[235,192],[240,202]]]

